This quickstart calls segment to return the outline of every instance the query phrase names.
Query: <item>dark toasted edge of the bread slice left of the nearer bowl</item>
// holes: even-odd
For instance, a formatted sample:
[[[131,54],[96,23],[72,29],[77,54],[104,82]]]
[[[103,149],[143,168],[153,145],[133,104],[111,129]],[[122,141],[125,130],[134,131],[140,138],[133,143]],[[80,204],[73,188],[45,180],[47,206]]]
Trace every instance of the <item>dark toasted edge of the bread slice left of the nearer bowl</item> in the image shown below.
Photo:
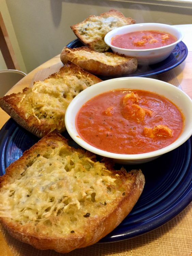
[[[59,72],[51,74],[49,77],[47,77],[47,79],[50,77],[57,78],[57,74],[66,72],[70,72],[71,74],[81,72],[82,74],[89,76],[94,81],[94,83],[99,83],[102,81],[97,76],[94,76],[93,74],[84,71],[78,65],[70,61],[68,61],[68,63],[66,63],[59,70]],[[48,122],[46,120],[41,120],[41,125],[39,125],[38,120],[34,116],[29,116],[28,118],[26,118],[26,113],[23,111],[23,109],[19,109],[17,107],[17,104],[21,100],[22,94],[27,93],[27,91],[30,89],[31,88],[29,87],[25,87],[23,89],[23,93],[13,93],[11,95],[3,96],[2,98],[0,98],[0,107],[8,115],[10,115],[16,121],[17,124],[25,128],[29,132],[33,133],[37,137],[42,138],[51,131]],[[65,127],[63,127],[63,130],[65,130]]]

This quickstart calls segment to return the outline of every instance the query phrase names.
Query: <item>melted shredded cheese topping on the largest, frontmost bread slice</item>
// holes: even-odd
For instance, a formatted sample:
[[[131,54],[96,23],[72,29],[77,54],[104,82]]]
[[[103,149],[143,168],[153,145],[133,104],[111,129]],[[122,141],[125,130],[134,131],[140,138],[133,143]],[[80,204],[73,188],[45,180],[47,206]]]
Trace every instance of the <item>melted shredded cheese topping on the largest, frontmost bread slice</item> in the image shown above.
[[[103,163],[90,157],[63,145],[52,146],[29,159],[16,179],[1,188],[0,217],[30,225],[28,232],[60,236],[77,230],[86,217],[97,217],[113,207],[123,193],[116,189],[118,176],[112,177]]]

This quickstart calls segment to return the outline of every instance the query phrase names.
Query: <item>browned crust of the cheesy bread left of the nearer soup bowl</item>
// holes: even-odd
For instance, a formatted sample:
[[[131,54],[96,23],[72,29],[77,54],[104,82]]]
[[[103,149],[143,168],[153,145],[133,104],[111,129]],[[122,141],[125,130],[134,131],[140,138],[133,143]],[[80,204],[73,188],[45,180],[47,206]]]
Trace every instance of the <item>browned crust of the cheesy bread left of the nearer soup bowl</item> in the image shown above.
[[[91,81],[92,84],[99,83],[102,80],[99,79],[98,77],[84,71],[82,68],[79,66],[75,65],[72,62],[66,63],[57,73],[51,74],[47,79],[44,81],[48,81],[49,79],[54,79],[57,81],[60,79],[60,77],[63,76],[78,76],[82,74],[84,77],[88,77]],[[35,84],[35,82],[34,82]],[[41,123],[38,122],[38,119],[34,115],[29,115],[26,117],[26,108],[25,106],[18,106],[19,102],[22,100],[24,95],[28,95],[31,93],[32,88],[26,87],[23,89],[23,93],[17,93],[17,94],[11,94],[11,95],[6,95],[2,98],[0,98],[0,106],[1,108],[8,113],[20,126],[24,127],[26,130],[32,132],[39,138],[42,138],[45,136],[48,132],[51,130],[56,129],[57,127],[56,122],[55,124],[52,122],[50,123],[50,119],[41,119]],[[76,92],[77,94],[77,92]],[[72,99],[70,99],[72,100]],[[69,100],[69,102],[70,102]],[[63,114],[65,113],[66,109],[63,110]],[[58,128],[57,128],[58,129]],[[65,130],[65,125],[64,123],[61,125],[61,129],[59,129],[60,132]]]

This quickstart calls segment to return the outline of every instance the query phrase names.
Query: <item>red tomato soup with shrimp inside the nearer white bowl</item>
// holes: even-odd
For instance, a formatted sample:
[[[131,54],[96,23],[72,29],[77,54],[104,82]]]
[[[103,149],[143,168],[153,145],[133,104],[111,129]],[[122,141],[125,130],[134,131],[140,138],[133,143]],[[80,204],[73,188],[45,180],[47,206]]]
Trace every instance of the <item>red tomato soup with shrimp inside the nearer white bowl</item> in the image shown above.
[[[118,89],[93,97],[79,110],[77,131],[86,142],[118,154],[140,154],[174,142],[184,117],[175,104],[144,90]]]

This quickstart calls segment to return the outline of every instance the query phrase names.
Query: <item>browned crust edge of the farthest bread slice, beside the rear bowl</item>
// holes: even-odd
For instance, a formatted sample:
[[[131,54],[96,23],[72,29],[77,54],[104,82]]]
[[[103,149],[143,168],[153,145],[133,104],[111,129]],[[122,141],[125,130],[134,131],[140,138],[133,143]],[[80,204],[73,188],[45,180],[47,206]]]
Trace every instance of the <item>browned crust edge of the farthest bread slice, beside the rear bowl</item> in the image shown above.
[[[130,25],[130,24],[135,24],[136,23],[136,21],[134,19],[132,19],[131,17],[125,17],[121,12],[117,11],[116,9],[111,9],[108,12],[101,13],[99,16],[90,15],[89,17],[84,19],[82,22],[74,24],[74,25],[72,25],[70,27],[71,27],[72,31],[74,32],[74,34],[76,35],[76,37],[79,39],[80,42],[82,42],[84,45],[87,45],[91,49],[95,49],[95,46],[98,45],[98,42],[101,39],[98,38],[98,39],[95,39],[95,40],[93,40],[91,42],[88,42],[86,39],[84,39],[82,37],[82,35],[78,31],[79,24],[83,24],[83,23],[88,22],[91,17],[107,18],[107,17],[113,17],[113,16],[114,17],[117,16],[117,17],[123,19],[123,21],[126,23],[126,25]],[[107,32],[109,32],[109,31],[107,31]],[[102,40],[104,42],[104,39],[102,39]],[[99,50],[99,52],[104,52],[104,51],[107,51],[108,49],[109,49],[109,46],[106,45],[105,49],[104,50],[101,49],[101,50]]]

